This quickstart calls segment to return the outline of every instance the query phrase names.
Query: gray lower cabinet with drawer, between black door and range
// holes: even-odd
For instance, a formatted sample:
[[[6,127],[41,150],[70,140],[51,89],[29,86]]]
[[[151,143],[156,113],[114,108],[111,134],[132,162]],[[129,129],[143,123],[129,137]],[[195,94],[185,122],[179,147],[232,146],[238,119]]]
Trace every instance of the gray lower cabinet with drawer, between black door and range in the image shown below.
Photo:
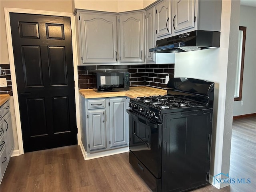
[[[81,138],[87,153],[128,146],[126,97],[80,96]]]

